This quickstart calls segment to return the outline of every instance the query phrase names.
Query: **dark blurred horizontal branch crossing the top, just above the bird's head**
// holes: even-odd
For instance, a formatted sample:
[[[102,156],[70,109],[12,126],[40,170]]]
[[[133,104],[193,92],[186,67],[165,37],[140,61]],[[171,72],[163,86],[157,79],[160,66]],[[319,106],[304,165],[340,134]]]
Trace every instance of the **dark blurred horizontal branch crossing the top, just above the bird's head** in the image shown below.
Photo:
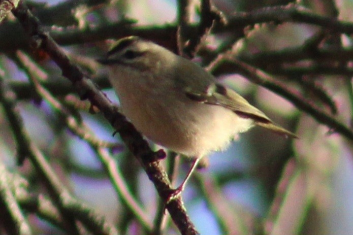
[[[284,7],[269,7],[247,13],[236,13],[229,17],[226,25],[215,24],[212,32],[232,32],[233,37],[243,37],[244,28],[257,23],[306,23],[324,27],[333,32],[353,33],[353,23],[339,21],[335,18],[316,15],[295,5]],[[133,21],[122,20],[112,24],[88,26],[84,29],[60,29],[50,31],[50,35],[60,45],[73,45],[89,42],[97,42],[111,38],[121,38],[130,35],[140,36],[152,41],[158,41],[169,49],[175,50],[174,43],[177,25],[146,25],[133,26]],[[198,24],[189,25],[191,32],[198,30]],[[23,31],[18,23],[7,22],[0,27],[0,51],[9,51],[26,48]]]

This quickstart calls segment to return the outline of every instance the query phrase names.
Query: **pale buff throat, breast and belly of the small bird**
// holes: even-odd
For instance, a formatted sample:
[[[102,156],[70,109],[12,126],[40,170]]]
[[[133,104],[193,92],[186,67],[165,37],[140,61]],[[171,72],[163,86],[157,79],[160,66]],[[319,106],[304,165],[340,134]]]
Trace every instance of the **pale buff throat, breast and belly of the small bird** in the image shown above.
[[[119,69],[110,73],[123,114],[145,137],[175,152],[202,157],[226,148],[237,133],[253,125],[231,110],[189,99],[168,79],[155,81]],[[139,76],[144,79],[137,80]]]

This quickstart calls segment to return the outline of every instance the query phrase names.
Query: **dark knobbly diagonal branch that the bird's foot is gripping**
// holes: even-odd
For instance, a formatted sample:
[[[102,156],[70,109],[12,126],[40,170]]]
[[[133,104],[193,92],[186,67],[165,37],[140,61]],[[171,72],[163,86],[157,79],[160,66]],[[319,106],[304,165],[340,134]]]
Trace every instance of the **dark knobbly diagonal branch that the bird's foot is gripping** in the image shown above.
[[[68,78],[80,97],[88,98],[93,106],[97,106],[112,126],[120,133],[122,140],[129,147],[130,151],[142,163],[148,177],[154,183],[159,196],[166,202],[170,192],[173,190],[170,181],[164,171],[159,159],[165,156],[163,151],[153,152],[148,143],[143,140],[135,127],[125,120],[125,117],[116,111],[105,94],[100,91],[92,81],[85,76],[81,70],[66,56],[56,42],[40,26],[39,20],[22,4],[14,15],[21,22],[27,34],[30,36],[31,45],[37,45],[46,51],[60,67],[63,76]],[[175,224],[182,234],[197,234],[195,226],[190,221],[186,210],[183,207],[181,198],[172,200],[166,208],[170,212]]]

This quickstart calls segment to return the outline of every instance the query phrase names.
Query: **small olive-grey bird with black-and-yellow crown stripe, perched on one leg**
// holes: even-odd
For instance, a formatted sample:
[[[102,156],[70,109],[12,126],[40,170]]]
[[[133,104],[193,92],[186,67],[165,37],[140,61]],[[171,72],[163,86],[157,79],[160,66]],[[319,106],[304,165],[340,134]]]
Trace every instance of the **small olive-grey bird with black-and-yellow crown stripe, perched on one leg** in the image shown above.
[[[144,136],[195,157],[176,194],[183,190],[199,159],[226,148],[237,133],[259,125],[296,137],[197,64],[150,41],[120,39],[98,61],[108,65],[123,114]]]

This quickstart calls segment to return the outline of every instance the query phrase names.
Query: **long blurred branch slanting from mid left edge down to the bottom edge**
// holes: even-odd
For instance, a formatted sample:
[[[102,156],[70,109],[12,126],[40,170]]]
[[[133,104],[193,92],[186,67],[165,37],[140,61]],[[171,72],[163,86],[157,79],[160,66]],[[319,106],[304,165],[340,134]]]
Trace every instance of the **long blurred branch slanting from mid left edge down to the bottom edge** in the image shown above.
[[[62,218],[65,220],[66,229],[72,234],[79,234],[75,221],[75,218],[77,218],[94,234],[117,234],[114,226],[109,225],[102,216],[94,213],[79,202],[62,185],[43,153],[29,140],[24,130],[22,119],[15,110],[15,95],[9,90],[5,93],[2,82],[0,86],[0,101],[4,106],[5,113],[13,130],[18,152],[22,156],[19,159],[23,161],[23,156],[27,156],[33,163],[38,175],[46,183],[54,202],[58,205]]]

